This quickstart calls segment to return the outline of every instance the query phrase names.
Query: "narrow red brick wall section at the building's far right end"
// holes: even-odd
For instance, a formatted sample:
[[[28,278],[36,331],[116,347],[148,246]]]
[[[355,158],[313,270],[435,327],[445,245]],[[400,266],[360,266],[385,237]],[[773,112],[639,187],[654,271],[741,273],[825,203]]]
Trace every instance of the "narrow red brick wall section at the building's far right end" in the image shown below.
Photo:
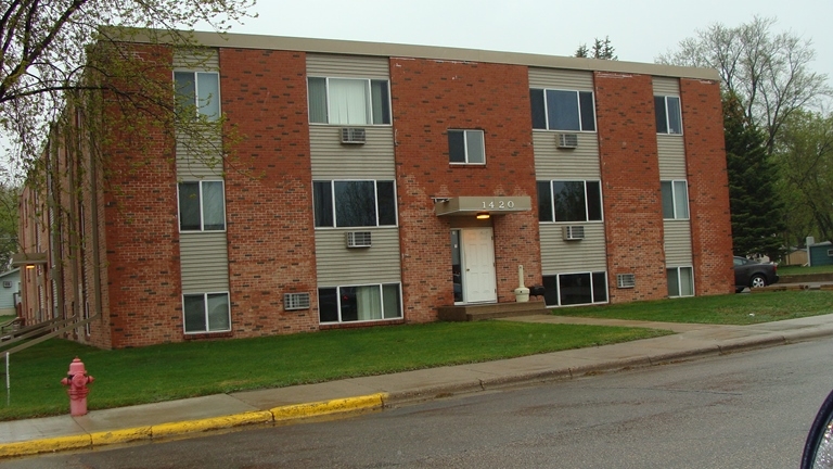
[[[681,79],[680,99],[689,174],[694,292],[732,293],[732,226],[720,86],[715,81]]]

